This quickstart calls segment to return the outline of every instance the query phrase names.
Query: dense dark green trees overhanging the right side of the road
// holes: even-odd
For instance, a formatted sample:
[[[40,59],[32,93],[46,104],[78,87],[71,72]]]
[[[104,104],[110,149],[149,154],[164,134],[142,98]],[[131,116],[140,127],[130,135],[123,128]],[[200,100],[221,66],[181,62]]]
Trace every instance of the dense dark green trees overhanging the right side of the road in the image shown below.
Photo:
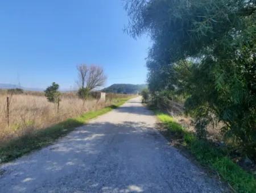
[[[148,87],[185,96],[197,128],[224,123],[224,137],[256,159],[256,1],[127,0],[133,37],[150,35]]]

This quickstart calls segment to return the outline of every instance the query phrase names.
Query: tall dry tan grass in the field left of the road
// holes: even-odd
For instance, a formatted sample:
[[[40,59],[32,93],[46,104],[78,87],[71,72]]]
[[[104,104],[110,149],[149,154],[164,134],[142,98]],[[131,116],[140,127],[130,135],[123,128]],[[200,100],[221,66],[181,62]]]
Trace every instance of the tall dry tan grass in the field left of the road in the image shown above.
[[[64,94],[60,98],[59,113],[57,112],[57,104],[48,102],[44,96],[11,95],[9,96],[9,126],[6,116],[6,97],[6,94],[0,95],[0,145],[65,119],[75,118],[85,112],[110,106],[116,102],[117,98],[127,97],[127,95],[107,95],[105,102],[90,99],[84,103],[76,95]]]

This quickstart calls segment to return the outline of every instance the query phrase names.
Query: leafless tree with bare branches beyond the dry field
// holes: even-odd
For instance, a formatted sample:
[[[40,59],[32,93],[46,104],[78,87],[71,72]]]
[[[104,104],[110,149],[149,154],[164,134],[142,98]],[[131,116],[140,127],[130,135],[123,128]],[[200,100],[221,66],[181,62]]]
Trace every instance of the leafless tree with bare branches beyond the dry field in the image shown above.
[[[86,99],[89,92],[97,87],[103,86],[106,82],[106,75],[104,69],[100,66],[81,64],[77,66],[79,85],[79,96]]]

